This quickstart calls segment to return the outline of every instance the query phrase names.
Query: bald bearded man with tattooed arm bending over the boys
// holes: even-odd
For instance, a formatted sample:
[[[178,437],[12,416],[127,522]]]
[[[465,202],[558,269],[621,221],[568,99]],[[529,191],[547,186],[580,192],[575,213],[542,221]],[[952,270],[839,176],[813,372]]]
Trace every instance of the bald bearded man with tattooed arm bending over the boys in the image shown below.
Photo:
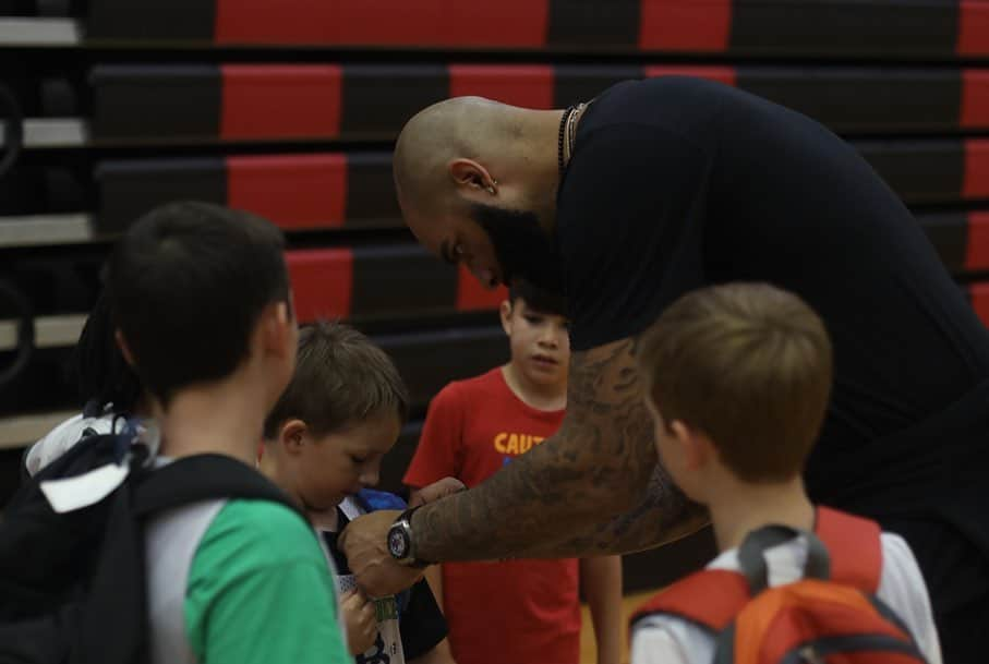
[[[834,340],[810,495],[906,536],[945,661],[973,661],[989,624],[989,335],[853,148],[744,92],[665,77],[566,111],[435,105],[402,131],[395,182],[443,259],[566,293],[574,353],[557,435],[471,491],[348,528],[370,592],[426,563],[631,552],[701,526],[656,463],[636,340],[688,290],[769,281]]]

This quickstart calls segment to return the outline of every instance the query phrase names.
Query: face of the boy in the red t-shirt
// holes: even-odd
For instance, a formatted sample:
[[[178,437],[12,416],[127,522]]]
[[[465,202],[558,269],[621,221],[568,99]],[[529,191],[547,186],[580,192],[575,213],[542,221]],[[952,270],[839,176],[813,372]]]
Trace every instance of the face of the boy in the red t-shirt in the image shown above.
[[[567,319],[531,309],[522,299],[502,304],[502,326],[511,342],[511,362],[536,385],[567,381],[570,335]]]

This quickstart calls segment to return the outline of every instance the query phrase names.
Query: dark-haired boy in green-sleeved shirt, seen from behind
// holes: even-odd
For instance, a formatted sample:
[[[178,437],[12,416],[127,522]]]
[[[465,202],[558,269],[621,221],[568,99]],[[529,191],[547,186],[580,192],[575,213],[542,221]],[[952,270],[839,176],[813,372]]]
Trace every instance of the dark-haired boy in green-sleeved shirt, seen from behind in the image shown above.
[[[216,205],[166,205],[120,240],[108,288],[121,350],[158,420],[159,462],[224,455],[253,466],[296,361],[280,231]],[[288,507],[194,503],[153,517],[145,552],[152,662],[346,661],[327,560]]]

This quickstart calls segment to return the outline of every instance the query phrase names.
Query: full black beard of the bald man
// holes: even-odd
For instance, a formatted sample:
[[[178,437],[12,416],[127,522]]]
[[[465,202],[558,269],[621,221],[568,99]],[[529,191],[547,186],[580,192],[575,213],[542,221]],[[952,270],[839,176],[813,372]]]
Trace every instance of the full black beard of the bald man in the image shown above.
[[[540,227],[535,213],[475,203],[471,218],[487,233],[505,286],[524,279],[543,290],[565,294],[559,249]]]

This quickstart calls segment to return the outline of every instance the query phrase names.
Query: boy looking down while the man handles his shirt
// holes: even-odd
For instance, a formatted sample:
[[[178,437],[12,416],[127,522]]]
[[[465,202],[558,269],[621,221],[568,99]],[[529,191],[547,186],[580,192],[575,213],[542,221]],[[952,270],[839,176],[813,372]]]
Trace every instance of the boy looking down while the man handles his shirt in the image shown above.
[[[408,409],[405,383],[382,349],[351,327],[319,322],[300,330],[296,373],[265,421],[262,471],[305,509],[333,554],[359,664],[453,664],[446,621],[425,581],[369,601],[337,548],[350,520],[400,504],[367,487],[377,484]]]

